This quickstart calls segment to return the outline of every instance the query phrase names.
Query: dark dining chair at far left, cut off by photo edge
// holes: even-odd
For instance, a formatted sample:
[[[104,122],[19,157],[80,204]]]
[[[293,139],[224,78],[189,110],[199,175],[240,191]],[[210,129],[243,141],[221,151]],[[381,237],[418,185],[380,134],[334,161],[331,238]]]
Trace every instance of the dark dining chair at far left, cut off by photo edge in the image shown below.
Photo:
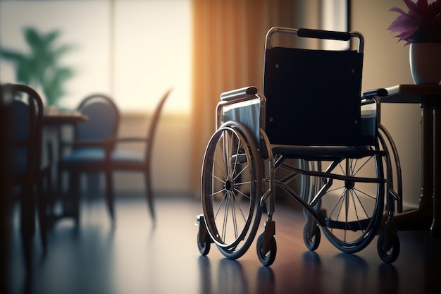
[[[27,85],[1,86],[4,99],[11,107],[11,186],[20,192],[20,230],[23,238],[25,262],[30,266],[32,239],[35,235],[37,208],[39,233],[46,253],[46,203],[51,195],[51,148],[48,162],[42,165],[43,104],[39,94]],[[46,189],[44,189],[46,182]],[[37,207],[36,207],[37,202]]]

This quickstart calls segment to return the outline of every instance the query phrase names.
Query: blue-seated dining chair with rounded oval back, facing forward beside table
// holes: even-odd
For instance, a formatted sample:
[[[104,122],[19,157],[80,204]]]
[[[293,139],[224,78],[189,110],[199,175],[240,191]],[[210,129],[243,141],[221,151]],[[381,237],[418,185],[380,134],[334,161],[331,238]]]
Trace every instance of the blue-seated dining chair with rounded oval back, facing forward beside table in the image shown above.
[[[89,95],[82,100],[77,111],[87,116],[87,121],[75,124],[73,140],[61,140],[58,155],[58,197],[63,195],[63,173],[68,173],[67,197],[61,197],[62,216],[73,217],[79,225],[81,174],[104,173],[106,202],[113,223],[112,178],[106,149],[113,149],[110,139],[118,132],[120,112],[113,99],[105,94]]]

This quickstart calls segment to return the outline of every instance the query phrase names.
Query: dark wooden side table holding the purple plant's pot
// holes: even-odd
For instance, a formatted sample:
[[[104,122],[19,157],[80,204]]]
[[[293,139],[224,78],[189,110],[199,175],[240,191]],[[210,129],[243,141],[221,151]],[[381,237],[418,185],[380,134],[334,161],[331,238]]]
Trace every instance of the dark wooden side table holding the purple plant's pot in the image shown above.
[[[396,85],[386,88],[382,103],[421,107],[421,195],[418,208],[396,214],[398,230],[428,230],[441,237],[441,85]],[[418,154],[416,154],[418,156]]]

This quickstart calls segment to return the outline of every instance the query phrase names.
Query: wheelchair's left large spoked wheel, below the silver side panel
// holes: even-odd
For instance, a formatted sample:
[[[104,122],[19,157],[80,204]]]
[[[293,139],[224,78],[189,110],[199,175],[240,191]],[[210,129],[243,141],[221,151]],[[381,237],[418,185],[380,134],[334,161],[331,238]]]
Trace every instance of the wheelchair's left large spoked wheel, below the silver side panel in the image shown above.
[[[244,125],[223,124],[206,148],[201,203],[207,231],[230,259],[247,252],[261,220],[261,159]]]

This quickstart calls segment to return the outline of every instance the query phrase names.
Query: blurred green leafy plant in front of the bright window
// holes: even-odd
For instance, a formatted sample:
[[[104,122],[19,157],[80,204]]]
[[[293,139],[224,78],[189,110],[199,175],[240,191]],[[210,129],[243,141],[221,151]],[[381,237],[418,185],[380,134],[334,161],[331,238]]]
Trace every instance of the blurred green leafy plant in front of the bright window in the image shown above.
[[[0,48],[0,58],[13,63],[17,82],[42,90],[46,106],[57,106],[65,94],[64,83],[74,73],[72,68],[60,66],[58,61],[72,46],[55,47],[59,35],[56,30],[39,34],[32,27],[26,27],[24,34],[30,53]]]

